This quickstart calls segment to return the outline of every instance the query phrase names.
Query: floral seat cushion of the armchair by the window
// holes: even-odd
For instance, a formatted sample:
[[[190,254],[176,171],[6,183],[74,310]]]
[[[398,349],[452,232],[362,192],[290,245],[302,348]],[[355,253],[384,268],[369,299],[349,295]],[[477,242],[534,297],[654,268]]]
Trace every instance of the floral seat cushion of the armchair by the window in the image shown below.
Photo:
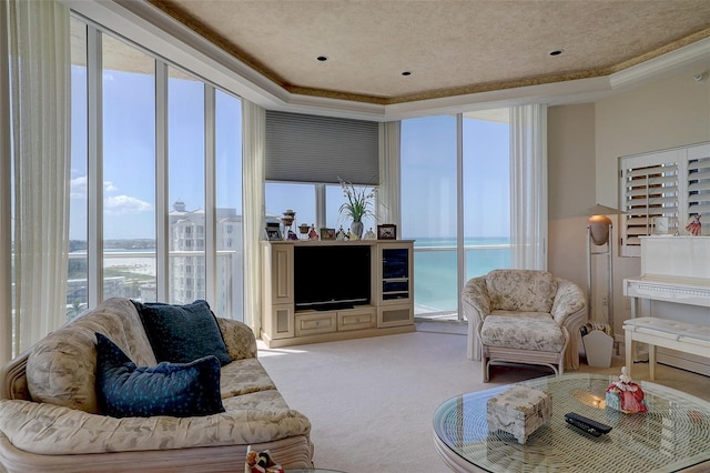
[[[480,340],[486,346],[552,353],[559,353],[565,346],[565,333],[555,319],[544,312],[494,311],[484,319]]]

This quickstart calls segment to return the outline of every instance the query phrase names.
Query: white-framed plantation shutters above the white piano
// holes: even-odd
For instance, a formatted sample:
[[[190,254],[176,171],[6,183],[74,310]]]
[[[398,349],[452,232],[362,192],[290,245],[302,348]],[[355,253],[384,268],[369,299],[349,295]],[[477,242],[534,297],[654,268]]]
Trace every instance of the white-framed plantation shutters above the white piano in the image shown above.
[[[656,218],[668,218],[669,233],[688,234],[692,215],[710,214],[710,143],[622,157],[619,168],[622,256],[640,255],[639,236],[653,233]]]

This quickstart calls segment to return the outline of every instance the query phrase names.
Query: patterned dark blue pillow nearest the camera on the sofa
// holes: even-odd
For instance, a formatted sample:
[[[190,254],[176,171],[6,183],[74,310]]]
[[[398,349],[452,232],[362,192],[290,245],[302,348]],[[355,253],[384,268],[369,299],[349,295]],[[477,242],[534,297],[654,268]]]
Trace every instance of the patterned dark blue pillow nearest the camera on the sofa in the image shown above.
[[[224,412],[220,362],[210,355],[186,364],[136,366],[97,332],[97,397],[112,417],[192,417]]]

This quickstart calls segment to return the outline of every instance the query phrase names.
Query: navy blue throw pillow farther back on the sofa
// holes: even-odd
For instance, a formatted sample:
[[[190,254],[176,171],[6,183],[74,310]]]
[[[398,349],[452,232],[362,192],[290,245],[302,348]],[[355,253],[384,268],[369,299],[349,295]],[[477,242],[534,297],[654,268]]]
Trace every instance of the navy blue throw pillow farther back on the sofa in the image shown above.
[[[222,366],[232,361],[206,301],[185,305],[135,301],[133,304],[159,362],[190,363],[206,355],[216,356]]]

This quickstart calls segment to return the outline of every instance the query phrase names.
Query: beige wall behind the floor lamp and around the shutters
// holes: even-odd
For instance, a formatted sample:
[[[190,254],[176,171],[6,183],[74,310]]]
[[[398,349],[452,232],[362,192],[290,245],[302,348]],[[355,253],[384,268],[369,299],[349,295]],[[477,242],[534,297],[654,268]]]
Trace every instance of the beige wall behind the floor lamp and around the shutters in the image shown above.
[[[710,63],[706,70],[710,70]],[[622,91],[596,103],[548,109],[549,258],[548,269],[587,288],[586,217],[596,203],[618,208],[618,159],[652,150],[710,141],[710,80],[677,73]],[[580,217],[581,215],[581,217]],[[613,221],[619,241],[619,218]],[[592,280],[592,319],[604,320],[605,262]],[[613,313],[617,340],[630,316],[625,278],[640,274],[638,258],[613,256]]]

